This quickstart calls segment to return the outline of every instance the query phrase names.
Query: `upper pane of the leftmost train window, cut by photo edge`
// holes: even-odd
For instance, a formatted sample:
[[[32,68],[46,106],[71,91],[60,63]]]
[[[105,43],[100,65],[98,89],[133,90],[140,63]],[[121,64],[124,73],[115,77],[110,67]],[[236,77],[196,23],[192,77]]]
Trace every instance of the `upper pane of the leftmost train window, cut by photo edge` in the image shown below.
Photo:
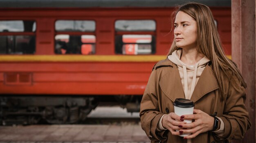
[[[35,32],[36,22],[29,20],[1,20],[0,32]]]

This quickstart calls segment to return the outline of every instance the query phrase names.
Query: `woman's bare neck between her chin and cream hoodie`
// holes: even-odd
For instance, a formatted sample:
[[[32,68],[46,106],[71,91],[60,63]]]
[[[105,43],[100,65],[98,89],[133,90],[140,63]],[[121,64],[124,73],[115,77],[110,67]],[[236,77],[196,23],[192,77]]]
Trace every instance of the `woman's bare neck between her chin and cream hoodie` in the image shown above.
[[[195,65],[203,57],[204,54],[198,53],[195,48],[189,50],[182,48],[182,55],[180,57],[180,61],[182,61],[186,65]]]

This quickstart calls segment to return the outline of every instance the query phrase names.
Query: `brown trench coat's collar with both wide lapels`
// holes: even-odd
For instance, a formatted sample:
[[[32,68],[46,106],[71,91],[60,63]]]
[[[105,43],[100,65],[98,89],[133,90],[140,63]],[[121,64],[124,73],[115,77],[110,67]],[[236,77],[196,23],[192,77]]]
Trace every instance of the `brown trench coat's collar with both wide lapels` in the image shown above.
[[[167,59],[168,60],[168,59]],[[173,68],[166,75],[162,76],[159,85],[162,91],[173,102],[176,98],[185,98],[184,90],[180,79],[180,73],[177,65],[171,61],[163,60],[161,63],[157,63],[154,68],[162,66],[172,66]],[[207,93],[219,88],[218,82],[213,74],[213,70],[209,65],[204,68],[198,83],[195,86],[191,100],[193,102],[198,101]]]

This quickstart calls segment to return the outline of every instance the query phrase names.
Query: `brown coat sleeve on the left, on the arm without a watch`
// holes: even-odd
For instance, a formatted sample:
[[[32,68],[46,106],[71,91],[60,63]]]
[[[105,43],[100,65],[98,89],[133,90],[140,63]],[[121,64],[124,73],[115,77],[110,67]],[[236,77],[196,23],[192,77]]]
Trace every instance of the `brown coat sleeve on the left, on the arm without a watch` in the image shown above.
[[[159,142],[166,141],[168,130],[157,131],[157,123],[164,114],[159,111],[159,79],[157,78],[156,72],[157,70],[153,69],[149,77],[141,100],[139,115],[141,118],[141,128],[146,132],[149,139],[154,142]]]

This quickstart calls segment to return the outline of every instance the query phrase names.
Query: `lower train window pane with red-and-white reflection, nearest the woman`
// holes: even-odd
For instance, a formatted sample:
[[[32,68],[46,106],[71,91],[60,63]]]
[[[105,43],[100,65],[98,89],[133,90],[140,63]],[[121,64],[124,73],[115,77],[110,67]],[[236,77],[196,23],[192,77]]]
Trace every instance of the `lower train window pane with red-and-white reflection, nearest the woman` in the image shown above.
[[[155,53],[155,36],[153,35],[117,35],[117,54],[153,54]]]

